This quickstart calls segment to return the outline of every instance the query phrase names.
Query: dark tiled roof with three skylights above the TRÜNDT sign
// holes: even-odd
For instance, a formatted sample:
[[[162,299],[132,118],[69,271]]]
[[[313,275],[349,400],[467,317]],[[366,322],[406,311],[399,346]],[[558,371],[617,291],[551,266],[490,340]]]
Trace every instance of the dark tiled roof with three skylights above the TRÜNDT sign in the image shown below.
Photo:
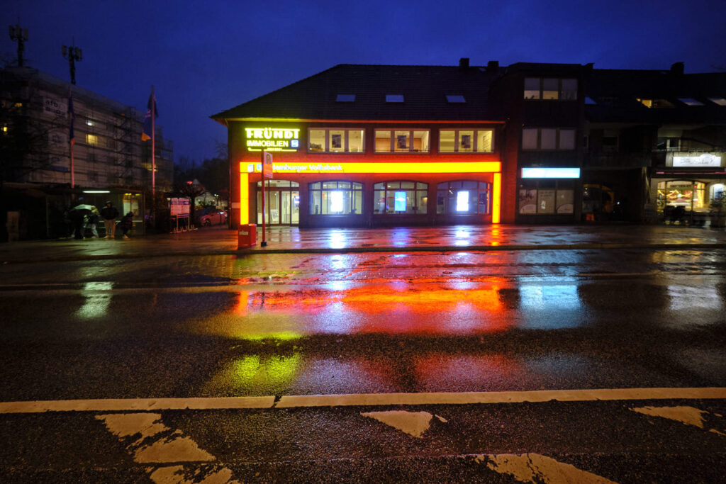
[[[485,67],[340,64],[211,118],[491,120],[495,77]],[[338,94],[355,94],[355,101],[337,102]],[[387,103],[386,94],[402,94],[404,102]],[[448,102],[447,94],[466,102]]]

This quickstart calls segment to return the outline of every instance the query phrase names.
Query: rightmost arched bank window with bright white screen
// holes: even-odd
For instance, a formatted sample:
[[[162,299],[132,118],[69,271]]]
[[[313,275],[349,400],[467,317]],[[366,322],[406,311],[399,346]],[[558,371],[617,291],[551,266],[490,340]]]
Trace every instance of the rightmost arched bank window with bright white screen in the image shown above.
[[[476,180],[445,181],[436,186],[436,213],[491,213],[492,184]]]

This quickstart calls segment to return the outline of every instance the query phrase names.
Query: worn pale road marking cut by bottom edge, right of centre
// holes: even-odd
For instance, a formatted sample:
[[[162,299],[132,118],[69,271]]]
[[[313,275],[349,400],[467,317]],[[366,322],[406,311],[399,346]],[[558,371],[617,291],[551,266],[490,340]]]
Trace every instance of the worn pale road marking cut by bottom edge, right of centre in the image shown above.
[[[540,454],[481,454],[476,462],[522,483],[615,484],[613,481]]]

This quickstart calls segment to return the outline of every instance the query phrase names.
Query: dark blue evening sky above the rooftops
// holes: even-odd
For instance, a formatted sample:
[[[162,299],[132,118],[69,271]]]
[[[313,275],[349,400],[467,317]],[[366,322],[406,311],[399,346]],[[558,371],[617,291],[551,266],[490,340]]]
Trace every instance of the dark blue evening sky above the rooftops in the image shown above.
[[[209,116],[340,63],[594,62],[687,73],[726,65],[724,0],[116,1],[4,0],[2,28],[28,28],[27,65],[146,109],[155,85],[174,158],[212,157]],[[4,34],[0,53],[15,57]]]

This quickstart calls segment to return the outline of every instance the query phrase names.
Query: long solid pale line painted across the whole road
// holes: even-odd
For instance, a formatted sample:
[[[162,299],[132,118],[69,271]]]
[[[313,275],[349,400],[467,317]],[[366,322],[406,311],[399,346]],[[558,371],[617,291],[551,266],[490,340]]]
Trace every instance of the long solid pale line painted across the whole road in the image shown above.
[[[726,399],[724,387],[603,388],[596,390],[534,390],[466,393],[359,393],[351,395],[290,395],[277,403],[274,395],[224,398],[111,398],[0,402],[0,414],[46,411],[161,411],[272,409],[325,406],[465,405],[547,401],[630,401]]]

